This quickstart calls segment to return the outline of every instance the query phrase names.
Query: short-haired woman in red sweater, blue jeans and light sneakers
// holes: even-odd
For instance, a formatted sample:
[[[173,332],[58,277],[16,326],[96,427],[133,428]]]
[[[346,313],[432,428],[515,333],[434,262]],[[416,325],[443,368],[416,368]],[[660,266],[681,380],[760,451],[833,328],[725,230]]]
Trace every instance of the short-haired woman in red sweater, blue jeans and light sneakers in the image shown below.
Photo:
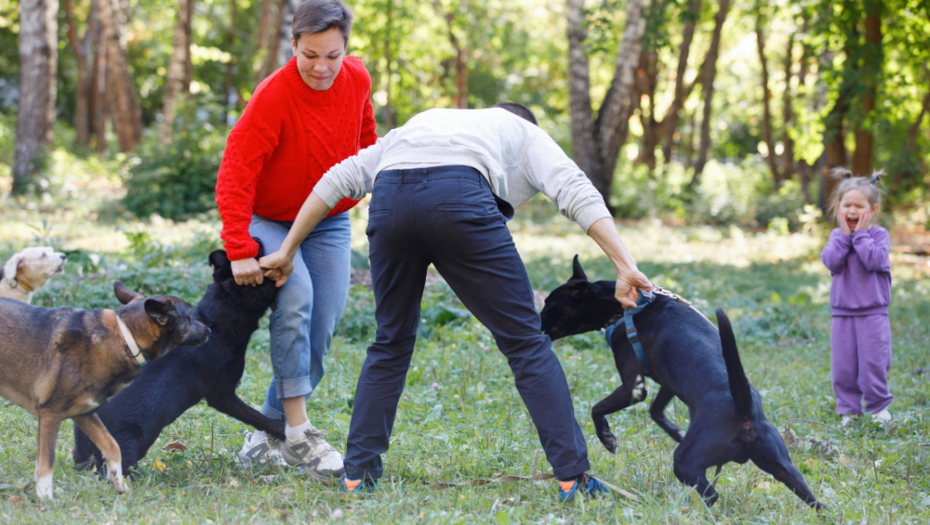
[[[258,243],[276,251],[326,171],[375,143],[371,78],[346,56],[352,11],[338,0],[309,0],[294,14],[294,58],[252,95],[226,142],[216,182],[221,237],[236,282],[262,283]],[[280,455],[322,482],[343,475],[342,456],[307,418],[306,400],[323,377],[323,358],[345,307],[351,230],[343,199],[301,244],[296,269],[272,306],[274,378],[262,413],[287,421],[287,440],[246,433],[244,465]],[[325,227],[322,227],[323,225]],[[270,454],[269,454],[270,453]]]

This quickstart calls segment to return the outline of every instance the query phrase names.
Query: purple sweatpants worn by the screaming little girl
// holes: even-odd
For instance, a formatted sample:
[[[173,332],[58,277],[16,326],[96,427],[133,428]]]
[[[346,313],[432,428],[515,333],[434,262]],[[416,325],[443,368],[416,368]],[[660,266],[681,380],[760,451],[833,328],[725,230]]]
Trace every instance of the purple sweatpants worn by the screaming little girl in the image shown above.
[[[861,414],[863,398],[867,412],[879,412],[891,404],[891,323],[887,315],[833,317],[830,348],[838,413]]]

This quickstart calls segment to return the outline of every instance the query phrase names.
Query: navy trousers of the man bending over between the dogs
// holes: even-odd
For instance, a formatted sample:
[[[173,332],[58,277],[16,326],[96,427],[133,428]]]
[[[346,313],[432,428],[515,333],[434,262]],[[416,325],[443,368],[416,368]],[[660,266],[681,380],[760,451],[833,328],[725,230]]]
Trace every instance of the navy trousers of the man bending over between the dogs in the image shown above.
[[[378,330],[355,391],[346,475],[382,475],[430,263],[507,357],[553,474],[586,472],[588,449],[565,373],[542,334],[526,268],[484,177],[464,166],[383,171],[367,233]]]

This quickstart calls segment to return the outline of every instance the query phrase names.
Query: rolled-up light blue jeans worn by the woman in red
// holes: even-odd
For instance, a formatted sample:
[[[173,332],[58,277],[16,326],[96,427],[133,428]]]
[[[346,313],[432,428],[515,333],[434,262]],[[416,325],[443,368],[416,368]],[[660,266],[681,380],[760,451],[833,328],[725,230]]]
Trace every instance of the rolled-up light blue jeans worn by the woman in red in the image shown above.
[[[265,253],[277,251],[290,222],[252,216],[249,234]],[[323,358],[349,294],[352,229],[349,214],[320,221],[294,256],[294,273],[271,306],[271,365],[274,377],[262,414],[284,419],[282,398],[309,396],[323,379]]]

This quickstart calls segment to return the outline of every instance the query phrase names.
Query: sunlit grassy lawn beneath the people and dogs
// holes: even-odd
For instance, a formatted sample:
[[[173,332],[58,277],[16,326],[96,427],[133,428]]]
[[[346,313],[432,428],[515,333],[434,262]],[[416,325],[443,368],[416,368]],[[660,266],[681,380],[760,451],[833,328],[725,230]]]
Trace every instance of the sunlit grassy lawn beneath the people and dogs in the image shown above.
[[[0,259],[45,241],[74,250],[65,275],[34,304],[114,307],[119,278],[146,294],[171,293],[196,302],[209,282],[206,254],[218,223],[137,223],[113,204],[116,184],[75,188],[75,204],[0,203]],[[94,197],[104,195],[104,197]],[[107,197],[109,196],[109,197]],[[98,199],[98,200],[94,200]],[[103,199],[103,200],[99,200]],[[93,211],[89,211],[93,210]],[[609,279],[608,261],[592,241],[551,207],[531,203],[511,223],[533,286],[551,290],[581,254],[592,279]],[[522,218],[521,218],[522,215]],[[367,250],[363,209],[353,211],[354,246]],[[43,219],[45,223],[43,224]],[[896,254],[891,310],[894,359],[890,387],[895,421],[868,418],[839,428],[830,386],[829,274],[817,257],[817,234],[779,235],[737,228],[623,224],[621,234],[654,281],[713,316],[723,306],[734,321],[747,375],[769,419],[783,429],[792,458],[814,493],[830,507],[817,515],[752,464],[729,464],[713,510],[672,473],[675,443],[641,403],[610,417],[621,439],[616,455],[593,437],[591,406],[619,378],[599,333],[554,345],[589,436],[593,472],[636,495],[557,503],[553,481],[492,483],[496,474],[548,470],[532,423],[490,333],[442,283],[424,298],[413,367],[401,399],[386,477],[366,497],[348,498],[293,471],[243,471],[234,461],[247,428],[200,404],[165,430],[141,462],[132,492],[120,496],[88,473],[72,470],[71,425],[59,436],[55,501],[39,502],[32,483],[36,420],[0,400],[0,521],[5,523],[920,523],[930,521],[930,279],[925,259]],[[374,303],[362,286],[349,303],[333,343],[324,382],[309,403],[313,423],[343,449],[355,381],[374,331]],[[268,334],[252,339],[240,395],[261,405],[271,376]],[[651,393],[654,385],[647,383]],[[651,395],[649,399],[651,400]],[[687,426],[674,402],[670,416]],[[179,440],[187,450],[164,449]],[[712,472],[711,472],[712,473]],[[431,484],[460,483],[440,488]],[[338,511],[338,512],[337,512]],[[341,517],[340,517],[341,516]]]

